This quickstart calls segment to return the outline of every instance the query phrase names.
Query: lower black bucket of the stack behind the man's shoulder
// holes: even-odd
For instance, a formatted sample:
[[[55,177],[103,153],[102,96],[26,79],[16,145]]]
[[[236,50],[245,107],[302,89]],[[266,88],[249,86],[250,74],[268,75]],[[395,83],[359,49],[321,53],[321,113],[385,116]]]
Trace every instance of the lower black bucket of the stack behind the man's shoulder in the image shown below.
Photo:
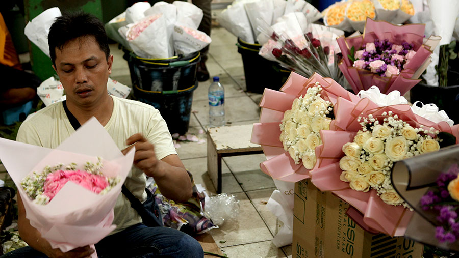
[[[194,85],[177,91],[146,91],[134,84],[134,97],[143,103],[154,106],[166,121],[169,132],[184,135],[190,125],[191,104],[193,91],[198,87],[196,80]]]

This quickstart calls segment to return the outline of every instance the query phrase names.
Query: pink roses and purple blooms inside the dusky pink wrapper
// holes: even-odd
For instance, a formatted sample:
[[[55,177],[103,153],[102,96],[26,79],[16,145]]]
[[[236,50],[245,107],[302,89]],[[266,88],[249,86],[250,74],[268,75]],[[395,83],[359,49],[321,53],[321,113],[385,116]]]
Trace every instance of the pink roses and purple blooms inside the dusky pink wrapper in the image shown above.
[[[352,66],[355,68],[368,70],[381,77],[391,77],[399,75],[415,54],[413,44],[402,42],[397,45],[387,39],[376,39],[363,44],[361,50],[355,51],[352,47],[348,58],[354,62]]]

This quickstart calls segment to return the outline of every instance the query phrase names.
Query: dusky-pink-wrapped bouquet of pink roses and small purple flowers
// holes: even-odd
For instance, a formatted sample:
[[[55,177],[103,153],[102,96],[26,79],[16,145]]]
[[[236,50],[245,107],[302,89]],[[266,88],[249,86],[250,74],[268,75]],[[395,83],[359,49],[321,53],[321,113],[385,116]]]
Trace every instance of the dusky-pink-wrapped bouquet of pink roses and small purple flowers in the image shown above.
[[[365,34],[337,39],[340,70],[355,93],[376,85],[382,93],[408,92],[429,65],[439,37],[424,38],[424,24],[397,26],[367,19]]]

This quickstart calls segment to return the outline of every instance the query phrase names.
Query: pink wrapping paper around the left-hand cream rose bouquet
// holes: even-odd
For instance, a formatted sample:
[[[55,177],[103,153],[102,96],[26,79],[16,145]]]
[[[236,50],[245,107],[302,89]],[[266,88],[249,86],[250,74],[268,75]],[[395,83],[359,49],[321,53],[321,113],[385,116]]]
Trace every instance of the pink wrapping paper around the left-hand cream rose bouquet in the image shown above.
[[[309,170],[302,164],[296,165],[290,155],[284,150],[279,140],[284,112],[291,109],[294,99],[306,94],[308,88],[314,87],[315,83],[322,85],[322,96],[333,105],[341,96],[349,101],[357,101],[360,98],[346,91],[340,84],[330,78],[323,78],[315,73],[311,78],[305,78],[292,72],[279,91],[265,89],[260,101],[262,107],[260,123],[253,124],[251,142],[260,144],[268,160],[260,164],[261,170],[273,179],[282,181],[298,182],[309,178]],[[335,159],[323,161],[323,164],[334,163]]]

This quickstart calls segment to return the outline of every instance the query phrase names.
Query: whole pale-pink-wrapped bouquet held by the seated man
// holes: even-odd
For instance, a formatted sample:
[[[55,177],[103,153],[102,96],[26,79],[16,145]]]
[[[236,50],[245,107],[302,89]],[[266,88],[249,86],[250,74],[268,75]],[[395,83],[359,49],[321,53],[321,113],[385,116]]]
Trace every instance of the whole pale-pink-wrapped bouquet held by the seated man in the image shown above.
[[[94,245],[116,228],[113,208],[134,152],[124,156],[95,118],[56,149],[0,139],[0,159],[26,218],[62,252]]]

